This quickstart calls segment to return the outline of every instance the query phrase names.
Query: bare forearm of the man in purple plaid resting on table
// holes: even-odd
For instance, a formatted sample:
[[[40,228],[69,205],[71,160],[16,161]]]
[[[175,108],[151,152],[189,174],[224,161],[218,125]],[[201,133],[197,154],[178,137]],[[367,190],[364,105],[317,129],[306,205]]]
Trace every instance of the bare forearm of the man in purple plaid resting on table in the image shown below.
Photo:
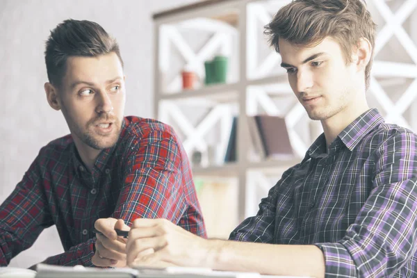
[[[208,240],[208,267],[263,275],[325,277],[325,258],[315,245],[272,245]]]

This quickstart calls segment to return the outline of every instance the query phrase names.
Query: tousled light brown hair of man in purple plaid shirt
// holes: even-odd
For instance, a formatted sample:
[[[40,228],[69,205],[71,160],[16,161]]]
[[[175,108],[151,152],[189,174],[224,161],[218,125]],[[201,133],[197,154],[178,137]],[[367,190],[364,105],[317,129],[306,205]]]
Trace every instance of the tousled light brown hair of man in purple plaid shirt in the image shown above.
[[[351,63],[353,47],[361,38],[367,38],[375,47],[375,28],[364,0],[294,0],[278,11],[264,33],[278,53],[279,38],[297,46],[313,47],[330,36],[341,45],[346,63]],[[365,69],[366,88],[370,82],[371,55]]]

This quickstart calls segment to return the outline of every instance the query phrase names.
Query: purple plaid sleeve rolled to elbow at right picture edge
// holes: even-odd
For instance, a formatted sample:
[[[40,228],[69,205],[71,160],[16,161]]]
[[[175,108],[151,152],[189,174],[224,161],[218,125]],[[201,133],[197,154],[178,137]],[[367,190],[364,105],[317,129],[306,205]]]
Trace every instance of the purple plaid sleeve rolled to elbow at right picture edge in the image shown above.
[[[337,243],[316,244],[326,277],[391,277],[416,252],[416,141],[397,133],[373,154],[373,190],[354,224]]]

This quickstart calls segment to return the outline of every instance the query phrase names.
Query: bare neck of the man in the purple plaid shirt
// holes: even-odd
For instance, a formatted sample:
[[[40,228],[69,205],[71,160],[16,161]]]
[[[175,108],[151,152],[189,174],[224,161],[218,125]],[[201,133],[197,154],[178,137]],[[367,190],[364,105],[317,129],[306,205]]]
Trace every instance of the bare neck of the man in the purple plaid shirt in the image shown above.
[[[326,120],[322,120],[323,131],[325,132],[326,145],[329,145],[336,139],[336,137],[357,119],[360,115],[365,113],[369,109],[366,101],[356,106],[346,108],[344,111],[337,113],[336,115],[329,117]]]

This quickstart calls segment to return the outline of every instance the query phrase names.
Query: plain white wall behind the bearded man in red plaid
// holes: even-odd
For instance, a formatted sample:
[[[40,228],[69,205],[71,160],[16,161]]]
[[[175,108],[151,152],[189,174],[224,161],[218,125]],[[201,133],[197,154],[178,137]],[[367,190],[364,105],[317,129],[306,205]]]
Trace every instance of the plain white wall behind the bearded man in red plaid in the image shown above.
[[[126,115],[153,116],[152,13],[196,0],[0,0],[0,202],[38,154],[68,133],[60,112],[47,104],[44,42],[65,19],[88,19],[120,44],[126,74]],[[28,267],[62,252],[55,227],[11,265]]]

